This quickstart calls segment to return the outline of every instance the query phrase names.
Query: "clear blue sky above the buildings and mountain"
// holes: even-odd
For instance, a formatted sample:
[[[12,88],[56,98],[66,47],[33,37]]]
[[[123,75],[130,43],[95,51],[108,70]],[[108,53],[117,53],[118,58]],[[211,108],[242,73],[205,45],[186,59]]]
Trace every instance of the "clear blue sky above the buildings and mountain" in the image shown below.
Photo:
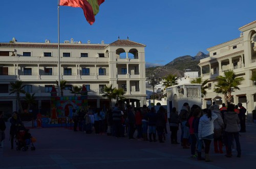
[[[57,42],[57,0],[1,1],[0,41]],[[81,8],[60,7],[60,42],[129,39],[146,45],[147,65],[238,38],[256,20],[255,0],[105,0],[90,26]]]

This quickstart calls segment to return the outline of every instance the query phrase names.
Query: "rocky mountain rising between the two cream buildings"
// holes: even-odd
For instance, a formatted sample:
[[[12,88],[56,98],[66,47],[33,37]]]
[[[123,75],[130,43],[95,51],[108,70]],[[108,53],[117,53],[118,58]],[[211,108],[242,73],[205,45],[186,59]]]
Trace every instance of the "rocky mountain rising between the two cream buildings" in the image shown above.
[[[194,57],[189,55],[181,56],[164,66],[146,68],[146,77],[152,74],[155,74],[156,77],[164,77],[169,74],[184,77],[184,72],[186,69],[190,69],[190,71],[198,71],[200,74],[201,70],[198,63],[200,62],[200,59],[207,57],[209,57],[209,55],[206,55],[203,52],[198,52],[198,54]]]

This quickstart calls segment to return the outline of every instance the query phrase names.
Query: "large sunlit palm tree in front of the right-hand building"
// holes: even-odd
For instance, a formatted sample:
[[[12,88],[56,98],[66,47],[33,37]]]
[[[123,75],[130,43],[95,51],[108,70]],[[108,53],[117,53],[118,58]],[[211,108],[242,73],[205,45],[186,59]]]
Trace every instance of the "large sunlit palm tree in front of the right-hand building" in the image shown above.
[[[230,102],[231,100],[231,92],[240,88],[239,85],[244,81],[243,77],[236,78],[233,70],[227,70],[224,72],[224,76],[216,77],[218,80],[217,85],[215,85],[215,92],[224,94],[225,103]]]

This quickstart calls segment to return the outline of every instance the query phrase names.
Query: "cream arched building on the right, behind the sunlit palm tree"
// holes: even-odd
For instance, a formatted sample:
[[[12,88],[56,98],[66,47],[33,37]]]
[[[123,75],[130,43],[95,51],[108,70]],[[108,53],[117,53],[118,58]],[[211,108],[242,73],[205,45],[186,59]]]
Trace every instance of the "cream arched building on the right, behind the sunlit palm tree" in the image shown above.
[[[251,77],[256,73],[256,20],[239,28],[240,37],[207,49],[210,57],[200,60],[202,80],[209,80],[207,94],[203,99],[203,108],[213,101],[221,105],[224,96],[214,92],[216,77],[224,75],[225,70],[232,69],[237,77],[243,77],[241,90],[232,92],[232,103],[242,103],[247,108],[248,118],[252,121],[255,109],[256,87]]]

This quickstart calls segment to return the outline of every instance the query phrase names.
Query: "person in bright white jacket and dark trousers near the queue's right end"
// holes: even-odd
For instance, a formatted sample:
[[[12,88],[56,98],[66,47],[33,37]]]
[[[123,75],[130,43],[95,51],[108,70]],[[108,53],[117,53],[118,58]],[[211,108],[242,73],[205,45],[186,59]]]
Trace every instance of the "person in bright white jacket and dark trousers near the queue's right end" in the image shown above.
[[[205,161],[210,161],[209,150],[211,140],[214,138],[214,120],[218,117],[209,109],[203,109],[204,115],[199,120],[198,137],[205,143]]]

